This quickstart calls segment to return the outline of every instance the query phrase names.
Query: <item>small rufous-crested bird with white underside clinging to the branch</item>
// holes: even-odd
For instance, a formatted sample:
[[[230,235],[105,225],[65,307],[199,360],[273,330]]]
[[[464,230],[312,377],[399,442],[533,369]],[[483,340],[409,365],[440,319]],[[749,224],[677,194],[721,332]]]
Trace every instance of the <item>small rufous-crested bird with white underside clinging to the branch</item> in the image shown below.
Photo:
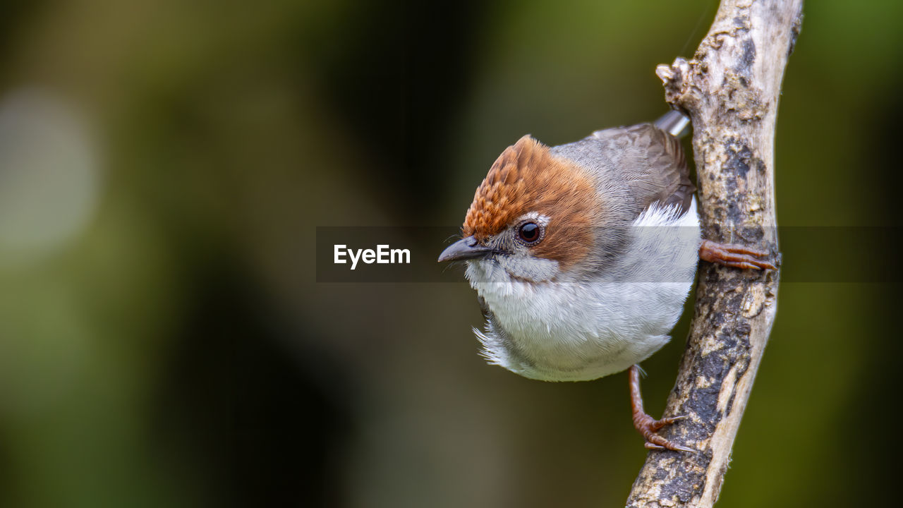
[[[699,259],[775,269],[768,253],[702,240],[678,135],[689,118],[508,146],[479,185],[461,240],[486,317],[474,329],[490,363],[542,381],[591,381],[630,370],[633,421],[648,448],[694,451],[656,431],[683,417],[646,414],[638,362],[664,346]]]

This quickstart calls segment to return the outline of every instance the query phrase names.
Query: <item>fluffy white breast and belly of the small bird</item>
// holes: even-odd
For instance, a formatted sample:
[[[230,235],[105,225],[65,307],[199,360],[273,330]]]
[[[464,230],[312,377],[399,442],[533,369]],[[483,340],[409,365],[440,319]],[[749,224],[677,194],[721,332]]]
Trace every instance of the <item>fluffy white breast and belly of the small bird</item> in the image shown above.
[[[491,312],[474,330],[490,363],[528,378],[589,381],[660,349],[693,285],[700,245],[696,202],[656,204],[630,228],[619,265],[591,283],[511,278],[495,260],[469,261],[467,278]],[[556,263],[554,260],[543,260]]]

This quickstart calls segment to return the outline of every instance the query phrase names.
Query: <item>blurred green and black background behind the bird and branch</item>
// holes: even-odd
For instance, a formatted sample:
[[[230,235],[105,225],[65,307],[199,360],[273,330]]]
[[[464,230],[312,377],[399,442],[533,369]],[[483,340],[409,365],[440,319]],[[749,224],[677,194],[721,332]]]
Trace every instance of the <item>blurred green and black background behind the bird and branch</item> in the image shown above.
[[[315,228],[453,232],[519,136],[656,118],[712,1],[0,5],[0,505],[622,505],[625,374],[490,367],[464,282],[317,283]],[[719,506],[897,499],[901,16],[805,5],[778,214],[836,234],[783,239]]]

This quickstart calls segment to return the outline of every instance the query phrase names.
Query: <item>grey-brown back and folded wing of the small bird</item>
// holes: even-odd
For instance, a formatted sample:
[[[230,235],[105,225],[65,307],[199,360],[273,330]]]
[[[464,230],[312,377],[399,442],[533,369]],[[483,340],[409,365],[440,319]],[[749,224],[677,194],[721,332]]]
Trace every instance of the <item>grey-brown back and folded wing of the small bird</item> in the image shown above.
[[[596,131],[553,152],[597,174],[600,189],[628,203],[629,216],[637,217],[653,202],[686,211],[693,200],[696,187],[680,140],[652,124]]]

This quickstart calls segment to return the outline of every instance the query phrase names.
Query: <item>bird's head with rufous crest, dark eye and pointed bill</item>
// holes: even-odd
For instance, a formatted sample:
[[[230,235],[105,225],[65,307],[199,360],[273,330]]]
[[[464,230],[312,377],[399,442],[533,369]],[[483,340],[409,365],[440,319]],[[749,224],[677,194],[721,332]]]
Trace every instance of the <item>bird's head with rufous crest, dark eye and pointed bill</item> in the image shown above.
[[[590,257],[604,213],[593,177],[531,136],[508,146],[470,204],[461,240],[439,261],[468,260],[508,276],[551,280]]]

